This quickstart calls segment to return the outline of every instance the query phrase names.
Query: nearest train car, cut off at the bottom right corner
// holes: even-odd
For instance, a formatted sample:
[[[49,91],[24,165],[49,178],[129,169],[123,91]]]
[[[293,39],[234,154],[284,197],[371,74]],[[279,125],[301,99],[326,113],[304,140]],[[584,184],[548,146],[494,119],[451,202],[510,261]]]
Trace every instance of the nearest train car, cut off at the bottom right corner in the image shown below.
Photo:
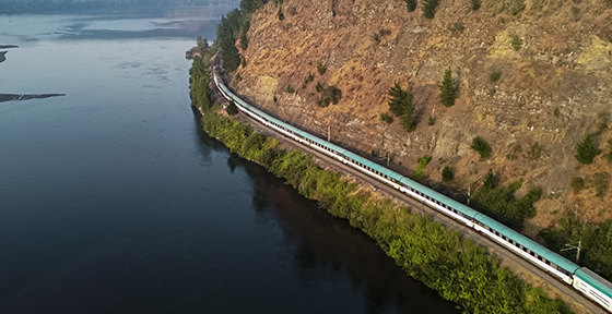
[[[574,288],[612,312],[612,283],[582,267],[574,273]]]

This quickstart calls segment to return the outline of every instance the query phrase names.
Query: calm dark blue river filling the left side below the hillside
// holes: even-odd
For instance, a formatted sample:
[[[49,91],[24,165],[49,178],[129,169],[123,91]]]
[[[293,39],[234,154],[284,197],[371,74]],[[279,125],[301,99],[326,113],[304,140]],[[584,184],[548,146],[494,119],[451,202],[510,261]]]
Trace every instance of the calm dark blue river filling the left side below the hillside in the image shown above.
[[[0,313],[456,312],[200,131],[184,56],[229,9],[0,15],[0,94],[66,94],[0,102]]]

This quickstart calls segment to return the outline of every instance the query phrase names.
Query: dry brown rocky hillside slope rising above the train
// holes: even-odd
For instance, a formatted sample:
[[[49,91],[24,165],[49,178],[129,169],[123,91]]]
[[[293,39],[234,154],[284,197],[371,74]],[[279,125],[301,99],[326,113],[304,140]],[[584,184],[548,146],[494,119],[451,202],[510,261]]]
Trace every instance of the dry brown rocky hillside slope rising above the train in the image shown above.
[[[478,189],[489,169],[503,184],[523,178],[519,195],[530,186],[548,194],[531,225],[551,226],[565,209],[591,221],[610,218],[612,192],[574,194],[569,183],[612,173],[601,156],[591,166],[574,157],[586,133],[599,132],[604,153],[612,137],[603,126],[612,126],[612,5],[521,1],[485,0],[478,11],[470,1],[442,1],[433,20],[421,8],[408,12],[401,0],[289,1],[282,21],[270,2],[252,17],[242,51],[247,65],[233,74],[233,85],[282,119],[323,137],[331,131],[332,142],[390,156],[404,174],[429,155],[432,182],[450,166],[451,188],[460,191]],[[516,8],[523,10],[508,13]],[[322,75],[319,63],[327,67]],[[447,69],[459,87],[450,108],[438,88]],[[309,73],[314,81],[306,84]],[[317,82],[340,88],[340,102],[318,107]],[[396,82],[414,94],[414,132],[397,118],[380,120],[392,116],[387,93]],[[490,159],[470,148],[475,136],[491,144]]]

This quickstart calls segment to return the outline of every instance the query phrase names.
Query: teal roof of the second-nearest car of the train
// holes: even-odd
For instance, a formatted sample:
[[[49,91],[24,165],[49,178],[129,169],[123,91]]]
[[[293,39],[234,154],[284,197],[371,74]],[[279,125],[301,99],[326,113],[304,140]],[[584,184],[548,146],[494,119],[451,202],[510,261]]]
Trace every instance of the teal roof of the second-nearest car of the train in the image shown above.
[[[523,247],[527,247],[528,250],[530,250],[531,252],[546,258],[549,262],[557,265],[558,267],[565,269],[566,271],[569,271],[572,274],[574,274],[574,271],[576,271],[576,269],[578,269],[580,266],[572,263],[570,261],[568,261],[567,258],[556,254],[555,252],[538,244],[537,242],[534,242],[533,240],[516,232],[515,230],[506,227],[504,224],[484,215],[484,214],[479,214],[474,217],[474,219],[476,221],[480,221],[491,228],[493,228],[495,231],[499,232],[502,235],[505,235],[507,238],[509,238],[510,240],[514,240],[515,242],[517,242],[518,244],[522,245]]]

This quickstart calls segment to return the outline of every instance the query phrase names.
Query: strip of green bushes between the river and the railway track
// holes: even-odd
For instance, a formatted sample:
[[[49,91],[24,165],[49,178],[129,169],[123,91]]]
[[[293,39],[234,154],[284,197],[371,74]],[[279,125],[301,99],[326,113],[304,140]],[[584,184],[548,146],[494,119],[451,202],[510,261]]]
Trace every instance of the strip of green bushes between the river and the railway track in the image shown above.
[[[205,83],[208,89],[210,78],[208,82],[201,78],[208,74],[191,71],[192,99],[198,99],[193,97],[198,92],[193,82]],[[207,97],[211,99],[211,95]],[[311,156],[289,150],[279,140],[220,114],[221,108],[216,105],[198,106],[198,100],[195,105],[200,107],[202,126],[211,136],[232,152],[284,178],[287,184],[305,197],[317,200],[330,214],[348,219],[372,237],[408,275],[466,312],[572,313],[561,299],[550,299],[541,288],[526,283],[502,267],[487,249],[462,238],[459,232],[444,228],[427,216],[413,214],[354,180],[323,169]]]

